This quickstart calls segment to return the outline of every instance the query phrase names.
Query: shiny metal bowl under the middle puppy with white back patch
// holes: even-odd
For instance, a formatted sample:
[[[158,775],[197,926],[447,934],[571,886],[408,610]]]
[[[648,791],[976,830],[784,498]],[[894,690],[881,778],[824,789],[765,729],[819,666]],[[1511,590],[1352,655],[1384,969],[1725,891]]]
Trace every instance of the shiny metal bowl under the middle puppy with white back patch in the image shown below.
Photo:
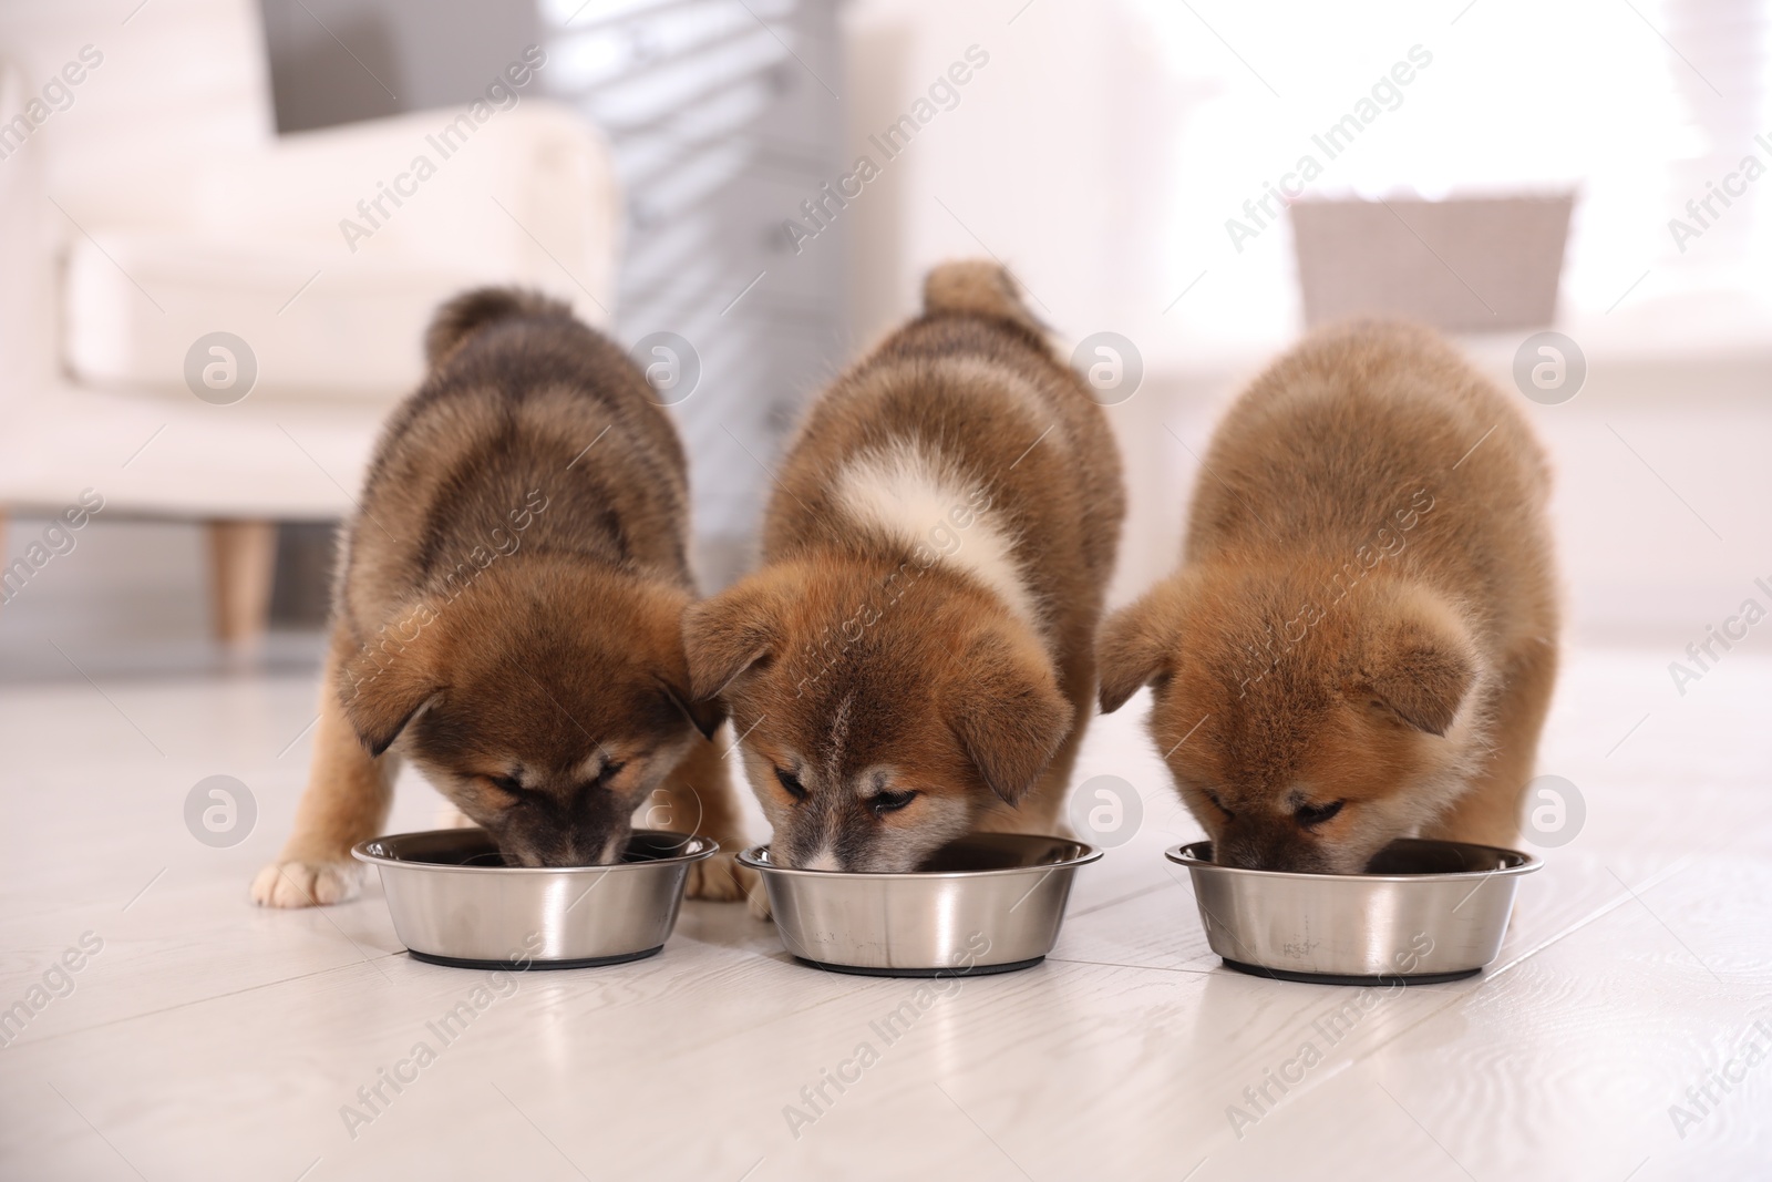
[[[1077,867],[1102,851],[1022,833],[975,833],[921,870],[789,870],[757,845],[781,943],[803,964],[870,976],[976,976],[1038,964],[1053,950]]]

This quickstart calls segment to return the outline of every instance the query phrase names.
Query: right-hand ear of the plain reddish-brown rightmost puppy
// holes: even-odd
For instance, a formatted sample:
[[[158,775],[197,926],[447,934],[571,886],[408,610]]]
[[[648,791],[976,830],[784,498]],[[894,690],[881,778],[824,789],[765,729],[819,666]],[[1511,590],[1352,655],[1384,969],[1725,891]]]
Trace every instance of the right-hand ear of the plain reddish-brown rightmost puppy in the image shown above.
[[[1403,594],[1377,608],[1361,643],[1361,693],[1416,730],[1444,737],[1476,684],[1478,654],[1451,608]]]

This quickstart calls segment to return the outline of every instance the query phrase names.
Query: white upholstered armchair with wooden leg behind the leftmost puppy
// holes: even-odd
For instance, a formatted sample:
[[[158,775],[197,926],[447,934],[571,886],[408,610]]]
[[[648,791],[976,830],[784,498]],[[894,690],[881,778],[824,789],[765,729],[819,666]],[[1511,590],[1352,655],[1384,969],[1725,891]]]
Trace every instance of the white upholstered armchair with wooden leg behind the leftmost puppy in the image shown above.
[[[255,4],[117,19],[92,0],[0,14],[0,119],[83,46],[103,55],[66,110],[0,135],[0,525],[87,487],[105,517],[202,521],[216,631],[245,642],[264,626],[275,523],[349,512],[438,301],[525,284],[608,324],[620,195],[601,136],[539,80],[480,119],[276,138]],[[218,331],[255,370],[239,400],[186,379]]]

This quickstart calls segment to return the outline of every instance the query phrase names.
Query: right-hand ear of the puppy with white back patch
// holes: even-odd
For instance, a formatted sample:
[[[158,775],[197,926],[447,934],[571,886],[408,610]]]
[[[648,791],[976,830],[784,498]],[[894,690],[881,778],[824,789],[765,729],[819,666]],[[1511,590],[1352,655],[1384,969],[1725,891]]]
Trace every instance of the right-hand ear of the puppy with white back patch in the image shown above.
[[[1001,638],[966,652],[944,707],[966,757],[1008,805],[1033,789],[1076,719],[1045,661]]]

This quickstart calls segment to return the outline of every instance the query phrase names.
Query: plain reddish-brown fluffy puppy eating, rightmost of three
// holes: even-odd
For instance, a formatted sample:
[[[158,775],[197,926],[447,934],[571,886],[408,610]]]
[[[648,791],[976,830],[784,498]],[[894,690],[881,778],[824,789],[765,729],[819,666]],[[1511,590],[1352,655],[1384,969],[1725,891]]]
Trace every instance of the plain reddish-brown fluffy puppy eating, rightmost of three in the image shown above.
[[[1423,328],[1306,338],[1219,424],[1180,569],[1102,631],[1233,867],[1361,872],[1398,836],[1510,845],[1556,680],[1549,471]]]

